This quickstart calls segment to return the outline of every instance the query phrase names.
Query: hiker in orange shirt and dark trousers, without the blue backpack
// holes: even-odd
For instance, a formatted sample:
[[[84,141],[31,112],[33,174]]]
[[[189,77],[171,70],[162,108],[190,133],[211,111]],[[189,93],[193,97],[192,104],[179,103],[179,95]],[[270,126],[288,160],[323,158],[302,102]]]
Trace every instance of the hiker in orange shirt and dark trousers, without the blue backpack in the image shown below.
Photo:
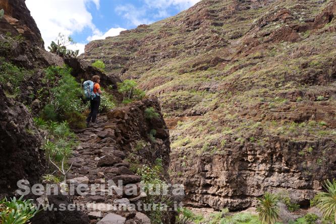
[[[96,122],[97,119],[97,114],[99,112],[99,104],[100,104],[100,95],[101,95],[101,90],[100,90],[100,77],[95,75],[92,76],[92,82],[94,82],[93,85],[93,92],[96,94],[96,96],[92,99],[90,99],[90,114],[86,119],[86,126],[89,126],[90,121],[92,121],[92,123]]]

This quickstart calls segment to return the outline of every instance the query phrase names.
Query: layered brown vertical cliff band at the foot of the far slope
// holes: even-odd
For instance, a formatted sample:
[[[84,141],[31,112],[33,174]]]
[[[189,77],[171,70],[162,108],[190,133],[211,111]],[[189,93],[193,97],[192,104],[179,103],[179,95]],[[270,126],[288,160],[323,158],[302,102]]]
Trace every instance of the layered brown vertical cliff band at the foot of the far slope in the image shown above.
[[[171,168],[183,175],[173,177],[183,183],[185,203],[193,207],[212,207],[231,210],[256,205],[256,197],[264,192],[287,194],[303,206],[322,189],[326,179],[336,175],[335,142],[285,142],[270,139],[265,146],[254,144],[231,145],[221,154],[193,156],[186,166],[179,153],[172,153]],[[298,157],[302,149],[313,148]],[[323,161],[320,158],[325,158]]]

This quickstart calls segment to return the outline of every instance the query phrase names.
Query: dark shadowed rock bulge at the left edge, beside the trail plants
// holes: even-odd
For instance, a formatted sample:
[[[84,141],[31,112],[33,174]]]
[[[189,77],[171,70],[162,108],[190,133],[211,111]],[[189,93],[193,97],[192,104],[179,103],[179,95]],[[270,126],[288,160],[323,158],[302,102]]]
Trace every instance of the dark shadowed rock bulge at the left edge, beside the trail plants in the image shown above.
[[[17,189],[17,181],[38,183],[45,171],[45,156],[39,149],[41,136],[22,103],[8,99],[0,85],[0,193]]]

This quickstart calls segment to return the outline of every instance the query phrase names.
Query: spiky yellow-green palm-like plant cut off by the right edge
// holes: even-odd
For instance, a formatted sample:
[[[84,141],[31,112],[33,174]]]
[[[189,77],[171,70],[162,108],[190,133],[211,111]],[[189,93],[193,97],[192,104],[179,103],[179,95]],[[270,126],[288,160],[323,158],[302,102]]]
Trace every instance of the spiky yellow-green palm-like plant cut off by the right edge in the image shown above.
[[[331,183],[326,180],[324,188],[327,192],[318,194],[317,207],[321,209],[323,218],[329,219],[333,216],[333,223],[336,223],[336,181],[333,180]]]

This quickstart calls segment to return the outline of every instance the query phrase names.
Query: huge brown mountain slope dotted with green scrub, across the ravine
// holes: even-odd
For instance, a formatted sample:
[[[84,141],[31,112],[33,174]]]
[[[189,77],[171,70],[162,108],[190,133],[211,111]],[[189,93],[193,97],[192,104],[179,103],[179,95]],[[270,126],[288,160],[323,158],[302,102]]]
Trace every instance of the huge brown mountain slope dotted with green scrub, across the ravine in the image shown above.
[[[202,1],[83,58],[159,97],[187,204],[287,190],[304,205],[336,176],[334,14],[335,1]]]

